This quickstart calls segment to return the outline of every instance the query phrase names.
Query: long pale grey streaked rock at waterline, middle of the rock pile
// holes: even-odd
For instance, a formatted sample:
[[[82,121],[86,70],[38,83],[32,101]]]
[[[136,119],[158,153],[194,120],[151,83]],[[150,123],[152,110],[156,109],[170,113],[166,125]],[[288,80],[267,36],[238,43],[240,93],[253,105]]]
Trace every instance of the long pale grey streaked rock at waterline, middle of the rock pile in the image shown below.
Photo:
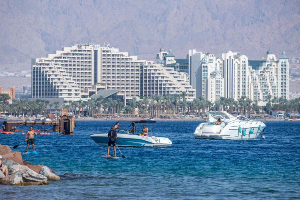
[[[49,184],[47,178],[44,175],[38,174],[27,166],[13,165],[9,168],[8,173],[14,174],[20,172],[23,178],[23,184],[25,185],[46,185]]]

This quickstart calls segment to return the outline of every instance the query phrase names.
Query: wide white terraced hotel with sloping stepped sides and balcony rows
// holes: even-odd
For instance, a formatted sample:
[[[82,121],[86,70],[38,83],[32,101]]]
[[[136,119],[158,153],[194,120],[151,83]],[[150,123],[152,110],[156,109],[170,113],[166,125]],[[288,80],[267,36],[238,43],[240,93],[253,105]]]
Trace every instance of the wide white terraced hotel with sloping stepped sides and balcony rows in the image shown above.
[[[173,68],[139,60],[117,48],[76,44],[46,58],[32,59],[32,98],[79,100],[102,89],[114,89],[125,101],[183,91],[193,99],[195,90],[188,78]]]

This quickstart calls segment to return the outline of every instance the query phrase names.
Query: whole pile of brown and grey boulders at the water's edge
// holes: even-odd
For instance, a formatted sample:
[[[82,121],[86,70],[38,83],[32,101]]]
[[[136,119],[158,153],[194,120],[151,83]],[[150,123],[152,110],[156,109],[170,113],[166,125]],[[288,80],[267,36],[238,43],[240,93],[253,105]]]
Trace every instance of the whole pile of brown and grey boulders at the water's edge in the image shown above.
[[[7,145],[0,145],[3,165],[8,168],[8,176],[0,170],[2,185],[48,185],[49,181],[61,180],[55,172],[44,165],[32,165],[22,159],[19,151],[12,151]]]

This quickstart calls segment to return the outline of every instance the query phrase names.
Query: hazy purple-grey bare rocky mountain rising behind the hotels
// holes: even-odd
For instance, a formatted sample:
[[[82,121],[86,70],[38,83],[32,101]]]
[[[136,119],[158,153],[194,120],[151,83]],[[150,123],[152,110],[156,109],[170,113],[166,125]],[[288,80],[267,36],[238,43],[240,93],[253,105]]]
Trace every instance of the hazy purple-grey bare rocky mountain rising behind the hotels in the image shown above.
[[[176,58],[188,49],[232,50],[249,59],[261,59],[269,48],[300,53],[298,0],[2,0],[0,18],[0,68],[22,63],[30,69],[30,58],[87,42],[150,60],[161,46]]]

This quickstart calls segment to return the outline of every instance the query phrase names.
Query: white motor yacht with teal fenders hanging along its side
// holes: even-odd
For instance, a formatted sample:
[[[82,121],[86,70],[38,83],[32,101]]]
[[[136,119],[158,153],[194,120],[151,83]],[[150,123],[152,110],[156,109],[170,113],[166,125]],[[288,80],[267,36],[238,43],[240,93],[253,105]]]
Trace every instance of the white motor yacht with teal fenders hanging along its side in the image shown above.
[[[250,120],[245,116],[234,117],[227,112],[206,112],[208,120],[197,126],[195,139],[256,139],[265,129],[262,121]],[[215,124],[217,119],[220,124]]]

